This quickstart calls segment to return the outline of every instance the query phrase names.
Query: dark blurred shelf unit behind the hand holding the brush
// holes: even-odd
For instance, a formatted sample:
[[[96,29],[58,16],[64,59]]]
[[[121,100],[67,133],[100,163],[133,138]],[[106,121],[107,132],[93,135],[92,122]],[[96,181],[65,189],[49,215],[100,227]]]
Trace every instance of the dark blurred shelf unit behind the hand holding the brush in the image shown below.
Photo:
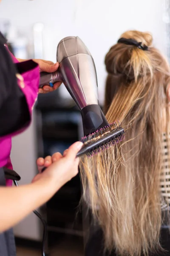
[[[42,143],[39,145],[43,145],[44,157],[56,151],[63,153],[79,140],[81,114],[78,107],[73,105],[73,101],[62,102],[57,97],[51,97],[54,95],[42,96],[36,106],[42,116],[39,122],[42,123]],[[45,99],[49,104],[46,104]],[[49,232],[82,236],[82,213],[79,207],[81,193],[80,177],[77,175],[48,201],[46,210],[44,208],[42,212],[45,210]]]

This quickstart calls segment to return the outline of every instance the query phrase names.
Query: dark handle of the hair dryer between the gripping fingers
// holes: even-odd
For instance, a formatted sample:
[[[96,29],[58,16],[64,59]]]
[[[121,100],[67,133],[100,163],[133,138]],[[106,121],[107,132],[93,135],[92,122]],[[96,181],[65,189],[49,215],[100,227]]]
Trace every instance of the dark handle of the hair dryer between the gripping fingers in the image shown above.
[[[62,80],[62,75],[59,73],[59,70],[55,71],[54,73],[41,72],[39,88],[42,88],[44,85],[53,87],[54,83],[60,82]]]

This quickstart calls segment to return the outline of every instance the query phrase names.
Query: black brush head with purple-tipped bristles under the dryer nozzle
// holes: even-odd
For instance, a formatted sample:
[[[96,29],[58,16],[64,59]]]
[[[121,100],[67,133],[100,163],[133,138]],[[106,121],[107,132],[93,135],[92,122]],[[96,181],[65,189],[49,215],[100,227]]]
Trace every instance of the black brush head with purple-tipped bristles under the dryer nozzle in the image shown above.
[[[84,145],[77,153],[77,157],[84,154],[91,157],[94,154],[98,154],[100,151],[104,151],[108,147],[119,143],[124,140],[124,138],[124,129],[120,127],[120,125],[117,125],[116,122],[113,122],[112,124],[100,128],[92,134],[83,137],[82,142]]]

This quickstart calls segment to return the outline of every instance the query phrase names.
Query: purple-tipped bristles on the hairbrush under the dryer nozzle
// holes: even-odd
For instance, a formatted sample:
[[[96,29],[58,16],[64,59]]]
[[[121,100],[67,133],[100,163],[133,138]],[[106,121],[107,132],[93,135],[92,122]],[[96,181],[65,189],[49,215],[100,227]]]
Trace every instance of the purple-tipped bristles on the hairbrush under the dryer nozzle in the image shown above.
[[[119,122],[118,122],[119,123]],[[110,134],[110,132],[118,131],[120,127],[120,124],[117,125],[116,122],[111,123],[110,125],[107,125],[105,127],[102,127],[95,132],[86,135],[85,137],[82,137],[82,142],[84,145],[92,145],[94,141],[96,142],[98,137],[99,139],[101,137],[105,137],[107,134]],[[118,133],[115,133],[116,135],[113,137],[109,137],[109,139],[105,140],[105,143],[99,144],[96,147],[94,147],[90,152],[88,152],[88,156],[94,156],[96,154],[99,154],[101,151],[104,151],[108,149],[111,146],[116,145],[116,143],[121,142],[125,138],[125,131],[122,129],[122,131],[118,131]]]

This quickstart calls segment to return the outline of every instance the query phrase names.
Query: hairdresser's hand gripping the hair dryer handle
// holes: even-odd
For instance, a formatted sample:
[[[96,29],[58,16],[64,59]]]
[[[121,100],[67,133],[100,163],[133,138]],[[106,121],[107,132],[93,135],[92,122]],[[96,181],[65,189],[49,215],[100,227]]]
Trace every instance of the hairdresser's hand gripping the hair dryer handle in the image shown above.
[[[17,58],[17,60],[19,62],[26,61],[26,60],[19,59],[19,58]],[[33,59],[33,61],[39,65],[40,72],[44,71],[44,72],[52,73],[52,72],[56,71],[59,67],[58,62],[54,64],[52,61],[44,61],[41,59]],[[43,88],[39,89],[39,93],[52,92],[52,91],[56,90],[61,84],[62,84],[62,82],[57,82],[54,84],[53,87],[50,87],[49,85],[44,85]]]

